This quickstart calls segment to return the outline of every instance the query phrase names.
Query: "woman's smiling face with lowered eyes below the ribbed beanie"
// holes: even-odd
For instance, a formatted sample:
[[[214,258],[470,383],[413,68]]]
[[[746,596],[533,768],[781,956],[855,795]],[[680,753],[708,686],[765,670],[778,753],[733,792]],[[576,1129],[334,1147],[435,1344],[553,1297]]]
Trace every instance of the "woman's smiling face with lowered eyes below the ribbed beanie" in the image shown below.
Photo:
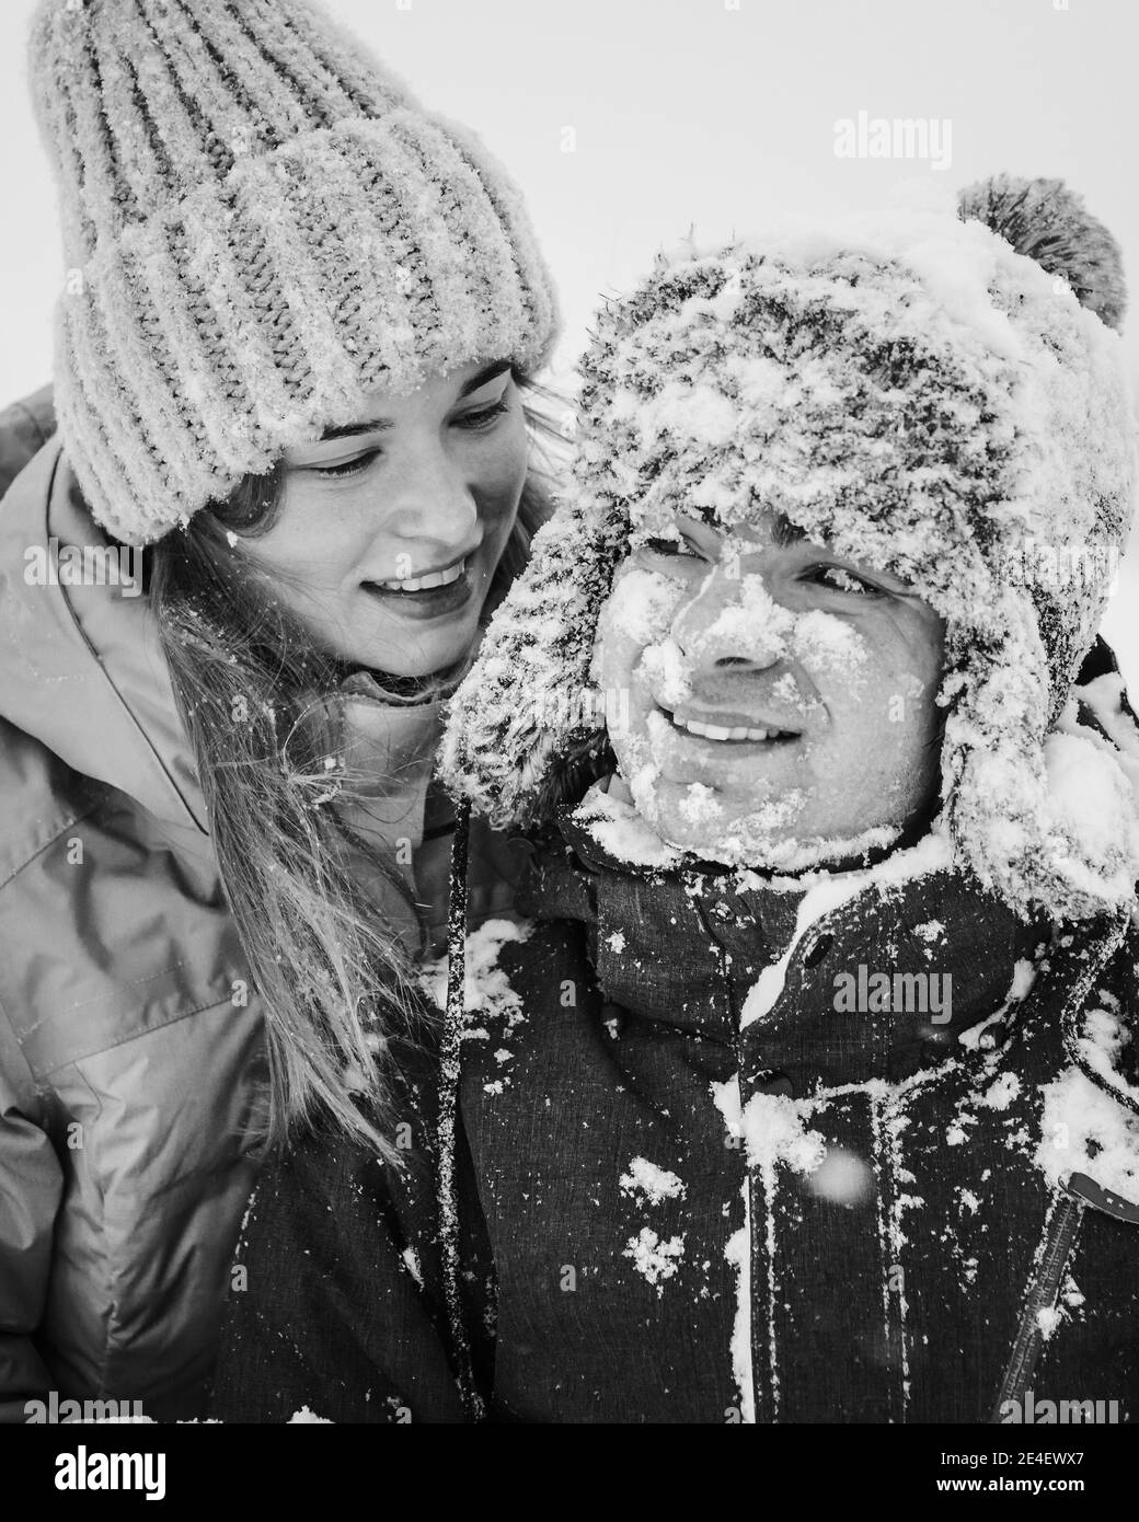
[[[428,676],[471,650],[527,473],[506,361],[362,391],[356,419],[285,454],[273,527],[245,552],[346,661]]]

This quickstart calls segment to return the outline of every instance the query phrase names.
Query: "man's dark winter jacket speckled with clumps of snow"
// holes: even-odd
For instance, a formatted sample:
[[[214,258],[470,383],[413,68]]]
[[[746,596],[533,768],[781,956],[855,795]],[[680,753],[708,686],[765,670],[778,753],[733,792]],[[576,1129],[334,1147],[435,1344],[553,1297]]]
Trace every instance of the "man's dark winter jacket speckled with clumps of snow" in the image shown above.
[[[807,900],[560,828],[466,948],[490,1417],[1137,1420],[1133,928],[1025,924],[933,840]],[[268,1173],[218,1414],[458,1420],[443,1222],[359,1155]]]

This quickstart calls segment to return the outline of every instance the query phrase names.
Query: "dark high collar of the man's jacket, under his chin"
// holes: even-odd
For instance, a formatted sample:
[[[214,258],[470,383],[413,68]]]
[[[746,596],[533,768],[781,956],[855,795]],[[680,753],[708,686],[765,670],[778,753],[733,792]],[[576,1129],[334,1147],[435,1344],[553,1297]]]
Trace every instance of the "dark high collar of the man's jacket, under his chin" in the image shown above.
[[[1014,1008],[1010,991],[1051,941],[935,840],[904,854],[909,872],[898,854],[807,893],[754,872],[620,863],[570,808],[557,831],[524,912],[585,924],[614,1005],[737,1046],[745,1068],[793,1093],[900,1081],[975,1050],[962,1032]]]

